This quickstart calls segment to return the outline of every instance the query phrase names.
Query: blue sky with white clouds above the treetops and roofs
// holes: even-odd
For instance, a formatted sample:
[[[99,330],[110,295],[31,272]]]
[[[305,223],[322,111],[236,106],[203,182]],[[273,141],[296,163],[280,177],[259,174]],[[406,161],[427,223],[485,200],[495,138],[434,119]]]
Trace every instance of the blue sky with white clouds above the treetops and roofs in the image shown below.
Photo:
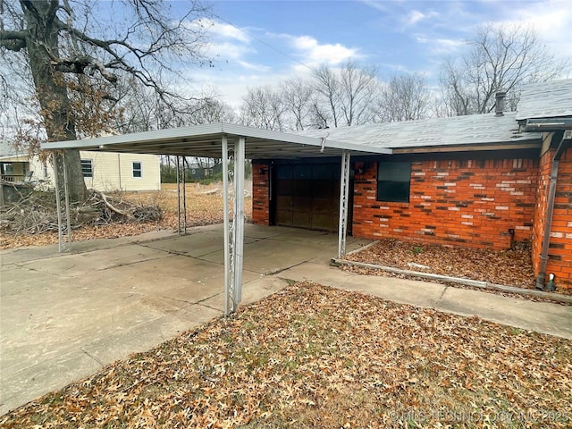
[[[172,2],[176,10],[185,2]],[[352,58],[379,79],[425,73],[437,85],[445,58],[467,48],[484,24],[531,25],[554,55],[572,57],[570,0],[241,1],[208,3],[207,55],[214,67],[187,71],[194,88],[215,88],[236,107],[248,88],[307,77],[320,64]],[[568,27],[567,27],[568,26]],[[566,76],[565,76],[566,77]],[[208,90],[208,89],[207,89]]]

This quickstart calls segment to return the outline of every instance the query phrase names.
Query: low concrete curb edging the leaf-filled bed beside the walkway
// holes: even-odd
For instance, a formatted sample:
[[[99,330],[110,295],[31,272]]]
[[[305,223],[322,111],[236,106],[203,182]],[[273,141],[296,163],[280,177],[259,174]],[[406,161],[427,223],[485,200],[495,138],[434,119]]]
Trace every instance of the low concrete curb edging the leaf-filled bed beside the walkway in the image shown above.
[[[361,248],[360,250],[363,249],[364,248]],[[572,296],[553,294],[551,292],[544,292],[542,290],[522,289],[514,286],[506,286],[503,284],[495,284],[490,282],[480,282],[478,280],[462,279],[459,277],[450,277],[448,275],[442,275],[442,274],[422,273],[419,271],[402,270],[400,268],[393,268],[392,266],[366,264],[365,262],[348,261],[337,257],[332,257],[332,265],[361,266],[363,268],[373,268],[376,270],[386,271],[388,273],[411,275],[413,277],[420,277],[422,279],[457,283],[485,290],[500,290],[502,292],[516,293],[518,295],[533,296],[537,298],[551,299],[552,301],[562,302],[566,304],[572,304]]]

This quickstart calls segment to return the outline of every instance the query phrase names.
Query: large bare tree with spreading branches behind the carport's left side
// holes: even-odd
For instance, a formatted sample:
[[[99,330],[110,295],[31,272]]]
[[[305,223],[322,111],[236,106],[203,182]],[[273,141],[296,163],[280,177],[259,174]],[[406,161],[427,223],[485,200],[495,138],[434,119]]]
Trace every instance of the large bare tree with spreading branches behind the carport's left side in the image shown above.
[[[94,18],[94,8],[102,4],[110,9],[105,11],[105,26]],[[17,4],[0,0],[4,63],[11,63],[9,55],[25,59],[29,75],[23,78],[33,82],[47,139],[77,139],[92,132],[93,127],[79,129],[74,101],[91,94],[101,100],[101,109],[90,115],[105,112],[105,100],[113,98],[107,87],[113,87],[122,76],[152,88],[165,101],[177,98],[166,89],[164,76],[172,75],[172,64],[205,63],[201,50],[205,29],[197,21],[191,25],[191,20],[204,15],[206,9],[198,0],[191,0],[181,19],[174,19],[169,11],[169,4],[161,0],[20,0]],[[114,17],[121,19],[121,24],[114,25]],[[90,21],[92,18],[95,21]],[[79,95],[74,98],[73,92]],[[68,151],[66,157],[71,198],[80,200],[87,195],[80,155]],[[58,163],[56,168],[63,166]]]

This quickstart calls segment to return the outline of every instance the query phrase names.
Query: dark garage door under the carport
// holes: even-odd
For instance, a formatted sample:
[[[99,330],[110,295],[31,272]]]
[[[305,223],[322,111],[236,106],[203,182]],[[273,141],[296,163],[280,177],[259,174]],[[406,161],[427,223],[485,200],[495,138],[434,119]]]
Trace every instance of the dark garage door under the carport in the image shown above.
[[[340,164],[278,164],[276,224],[337,231]]]

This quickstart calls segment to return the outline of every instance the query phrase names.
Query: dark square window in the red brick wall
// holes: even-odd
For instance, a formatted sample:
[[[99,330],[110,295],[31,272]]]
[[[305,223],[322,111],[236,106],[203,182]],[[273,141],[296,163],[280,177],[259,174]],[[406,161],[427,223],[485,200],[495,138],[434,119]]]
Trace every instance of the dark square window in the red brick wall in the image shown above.
[[[391,203],[408,203],[410,180],[411,163],[378,163],[377,200]]]

